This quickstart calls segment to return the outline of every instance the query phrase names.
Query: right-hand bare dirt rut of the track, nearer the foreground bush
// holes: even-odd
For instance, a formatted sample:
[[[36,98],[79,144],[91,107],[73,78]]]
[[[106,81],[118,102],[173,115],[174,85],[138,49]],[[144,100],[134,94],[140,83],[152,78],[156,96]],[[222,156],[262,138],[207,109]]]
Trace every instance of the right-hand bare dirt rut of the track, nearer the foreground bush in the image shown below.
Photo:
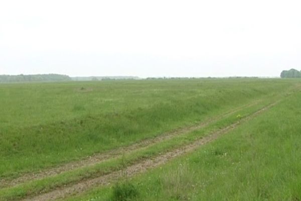
[[[223,134],[226,134],[227,132],[229,132],[230,130],[234,129],[235,127],[237,127],[241,122],[245,122],[249,119],[252,119],[254,117],[256,117],[257,115],[259,115],[260,113],[262,113],[263,111],[269,109],[270,107],[274,106],[276,103],[270,104],[260,110],[258,110],[257,112],[249,115],[248,117],[241,119],[240,121],[231,124],[230,126],[227,126],[217,132],[211,133],[210,135],[197,140],[189,145],[183,146],[183,147],[179,147],[173,151],[167,152],[163,155],[160,155],[158,157],[155,157],[154,159],[146,159],[143,161],[140,161],[136,164],[133,164],[131,166],[128,166],[125,168],[125,170],[120,170],[120,171],[114,171],[111,172],[109,174],[97,177],[97,178],[93,178],[93,179],[88,179],[85,181],[81,181],[77,184],[71,185],[71,186],[67,186],[64,188],[58,188],[56,190],[53,190],[51,192],[48,193],[44,193],[41,195],[38,195],[36,197],[33,198],[28,198],[25,200],[32,200],[32,201],[43,201],[43,200],[54,200],[57,198],[64,198],[70,194],[73,193],[80,193],[83,192],[85,190],[87,190],[88,188],[91,188],[93,186],[96,185],[107,185],[115,180],[117,180],[118,178],[122,177],[122,175],[124,175],[124,172],[126,173],[126,175],[128,176],[132,176],[134,174],[137,173],[142,173],[148,169],[154,168],[154,167],[158,167],[166,162],[168,162],[169,160],[180,156],[182,154],[191,152],[197,148],[199,148],[201,145],[207,144],[215,139],[217,139],[218,137],[220,137]]]

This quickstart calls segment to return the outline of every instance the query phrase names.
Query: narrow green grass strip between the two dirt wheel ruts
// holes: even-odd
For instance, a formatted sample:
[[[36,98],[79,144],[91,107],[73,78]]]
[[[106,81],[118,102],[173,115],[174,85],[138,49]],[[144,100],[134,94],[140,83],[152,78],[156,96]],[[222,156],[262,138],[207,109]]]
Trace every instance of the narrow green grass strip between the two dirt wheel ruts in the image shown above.
[[[100,176],[111,171],[120,170],[142,159],[152,158],[169,150],[175,149],[179,146],[194,142],[195,140],[200,139],[203,136],[206,136],[214,131],[217,131],[220,128],[237,122],[240,119],[237,118],[238,114],[241,118],[247,117],[270,103],[270,101],[271,100],[267,99],[263,102],[257,103],[256,105],[242,108],[236,113],[212,122],[203,129],[188,132],[185,135],[175,136],[172,139],[161,141],[154,145],[125,153],[122,156],[108,159],[92,166],[77,168],[56,176],[50,176],[40,180],[25,182],[14,187],[3,188],[0,190],[0,200],[17,200],[29,195],[39,194],[41,191],[47,192],[57,187],[65,186],[74,182],[79,182],[83,179]]]

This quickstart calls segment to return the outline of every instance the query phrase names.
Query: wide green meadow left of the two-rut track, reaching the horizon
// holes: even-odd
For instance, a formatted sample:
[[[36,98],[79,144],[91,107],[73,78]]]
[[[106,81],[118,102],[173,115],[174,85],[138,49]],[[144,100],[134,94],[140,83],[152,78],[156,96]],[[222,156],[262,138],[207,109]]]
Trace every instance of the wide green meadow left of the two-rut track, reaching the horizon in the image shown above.
[[[290,91],[279,79],[0,85],[0,177],[80,159]]]

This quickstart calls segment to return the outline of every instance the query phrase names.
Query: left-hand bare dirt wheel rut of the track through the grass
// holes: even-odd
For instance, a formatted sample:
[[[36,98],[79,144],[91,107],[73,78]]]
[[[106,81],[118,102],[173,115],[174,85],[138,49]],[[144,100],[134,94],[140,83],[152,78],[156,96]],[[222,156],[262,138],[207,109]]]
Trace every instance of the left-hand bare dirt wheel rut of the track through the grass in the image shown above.
[[[127,147],[120,147],[105,153],[100,153],[100,154],[96,154],[93,156],[89,156],[85,159],[82,160],[78,160],[78,161],[72,161],[66,164],[63,164],[61,166],[58,167],[54,167],[54,168],[50,168],[50,169],[45,169],[42,170],[40,172],[36,172],[36,173],[27,173],[27,174],[23,174],[22,176],[12,179],[12,180],[0,180],[0,187],[9,187],[9,186],[14,186],[26,181],[31,181],[31,180],[38,180],[38,179],[42,179],[48,176],[54,176],[66,171],[70,171],[76,168],[81,168],[81,167],[87,167],[87,166],[92,166],[95,165],[99,162],[102,162],[106,159],[111,159],[113,157],[117,157],[120,154],[124,153],[124,152],[132,152],[135,150],[138,150],[139,148],[144,148],[145,146],[150,146],[153,144],[156,144],[158,142],[161,142],[163,140],[168,140],[171,139],[175,136],[179,136],[179,135],[184,135],[187,134],[189,132],[195,131],[195,130],[199,130],[205,126],[207,126],[210,123],[213,123],[215,121],[218,121],[222,118],[225,118],[233,113],[236,113],[242,109],[254,106],[256,104],[258,104],[261,100],[255,100],[254,102],[250,103],[250,104],[246,104],[240,107],[235,108],[234,110],[231,110],[223,115],[220,115],[218,117],[209,119],[205,122],[202,122],[200,124],[194,125],[194,126],[190,126],[190,127],[185,127],[185,128],[180,128],[171,132],[167,132],[164,134],[161,134],[155,138],[152,139],[145,139],[142,140],[140,142],[137,142],[135,144],[129,145]]]

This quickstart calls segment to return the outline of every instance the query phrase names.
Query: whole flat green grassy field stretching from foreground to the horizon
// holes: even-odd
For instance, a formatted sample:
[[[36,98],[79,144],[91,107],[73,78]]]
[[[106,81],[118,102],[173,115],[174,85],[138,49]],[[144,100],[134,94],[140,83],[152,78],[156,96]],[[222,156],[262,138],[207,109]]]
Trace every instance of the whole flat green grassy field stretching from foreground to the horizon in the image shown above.
[[[119,192],[132,194],[127,200],[299,200],[299,86],[293,79],[1,84],[0,200],[49,200],[35,196],[78,192],[73,186],[83,181],[89,187],[68,199],[114,200]],[[213,142],[122,179],[131,166],[223,129],[229,133]],[[109,185],[89,183],[120,170]]]

